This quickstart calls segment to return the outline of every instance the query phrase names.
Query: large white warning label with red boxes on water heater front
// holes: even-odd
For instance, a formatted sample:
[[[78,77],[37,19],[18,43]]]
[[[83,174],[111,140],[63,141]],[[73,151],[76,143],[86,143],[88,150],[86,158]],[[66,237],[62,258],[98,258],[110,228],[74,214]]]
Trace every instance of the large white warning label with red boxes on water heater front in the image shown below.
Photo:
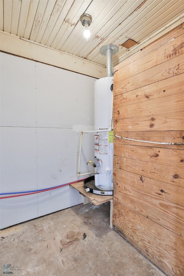
[[[95,132],[95,152],[108,155],[108,131]]]

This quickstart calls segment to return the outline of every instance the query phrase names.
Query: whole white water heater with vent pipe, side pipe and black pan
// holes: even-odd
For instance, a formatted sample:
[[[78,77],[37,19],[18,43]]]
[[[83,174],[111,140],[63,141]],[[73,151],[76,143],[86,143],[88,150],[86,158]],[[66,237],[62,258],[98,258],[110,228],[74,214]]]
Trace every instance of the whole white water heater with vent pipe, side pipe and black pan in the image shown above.
[[[87,192],[100,195],[113,194],[113,68],[112,55],[118,52],[116,45],[104,45],[100,49],[106,55],[106,77],[95,81],[94,86],[94,131],[81,131],[78,176],[80,173],[80,158],[83,133],[95,132],[93,161],[88,161],[94,169],[95,175],[84,181]]]

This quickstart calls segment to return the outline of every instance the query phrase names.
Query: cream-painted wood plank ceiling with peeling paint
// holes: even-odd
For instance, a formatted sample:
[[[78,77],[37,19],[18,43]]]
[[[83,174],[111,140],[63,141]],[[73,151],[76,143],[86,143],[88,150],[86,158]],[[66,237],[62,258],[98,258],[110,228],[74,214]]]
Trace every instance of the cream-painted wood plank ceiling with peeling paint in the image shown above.
[[[119,47],[113,56],[116,65],[127,51],[184,16],[183,0],[0,0],[0,4],[2,31],[102,65],[103,45]],[[92,16],[88,41],[80,21],[83,13]],[[133,42],[125,43],[129,39]]]

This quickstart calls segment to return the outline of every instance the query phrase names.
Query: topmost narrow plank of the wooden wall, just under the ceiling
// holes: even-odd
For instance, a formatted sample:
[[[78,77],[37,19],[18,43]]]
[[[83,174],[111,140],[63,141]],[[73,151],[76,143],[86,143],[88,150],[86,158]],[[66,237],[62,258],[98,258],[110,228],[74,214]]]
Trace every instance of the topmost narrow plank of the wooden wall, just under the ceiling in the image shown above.
[[[116,70],[120,70],[123,67],[129,66],[131,62],[142,60],[143,57],[147,56],[149,53],[152,53],[152,51],[155,51],[156,49],[160,48],[163,45],[167,45],[171,40],[174,40],[177,37],[180,37],[183,35],[184,32],[184,24],[180,24],[175,29],[171,30],[164,36],[160,37],[156,41],[152,42],[151,44],[147,45],[145,48],[143,48],[141,51],[136,53],[135,55],[132,55],[128,57],[126,60],[118,64],[114,67],[114,72]]]

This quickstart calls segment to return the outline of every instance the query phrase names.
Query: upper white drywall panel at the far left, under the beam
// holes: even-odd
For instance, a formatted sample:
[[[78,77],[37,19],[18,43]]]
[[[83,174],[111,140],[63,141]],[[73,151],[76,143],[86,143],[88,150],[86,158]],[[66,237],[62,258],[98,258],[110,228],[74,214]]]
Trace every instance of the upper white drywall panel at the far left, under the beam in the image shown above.
[[[36,127],[36,62],[0,53],[1,126]]]

